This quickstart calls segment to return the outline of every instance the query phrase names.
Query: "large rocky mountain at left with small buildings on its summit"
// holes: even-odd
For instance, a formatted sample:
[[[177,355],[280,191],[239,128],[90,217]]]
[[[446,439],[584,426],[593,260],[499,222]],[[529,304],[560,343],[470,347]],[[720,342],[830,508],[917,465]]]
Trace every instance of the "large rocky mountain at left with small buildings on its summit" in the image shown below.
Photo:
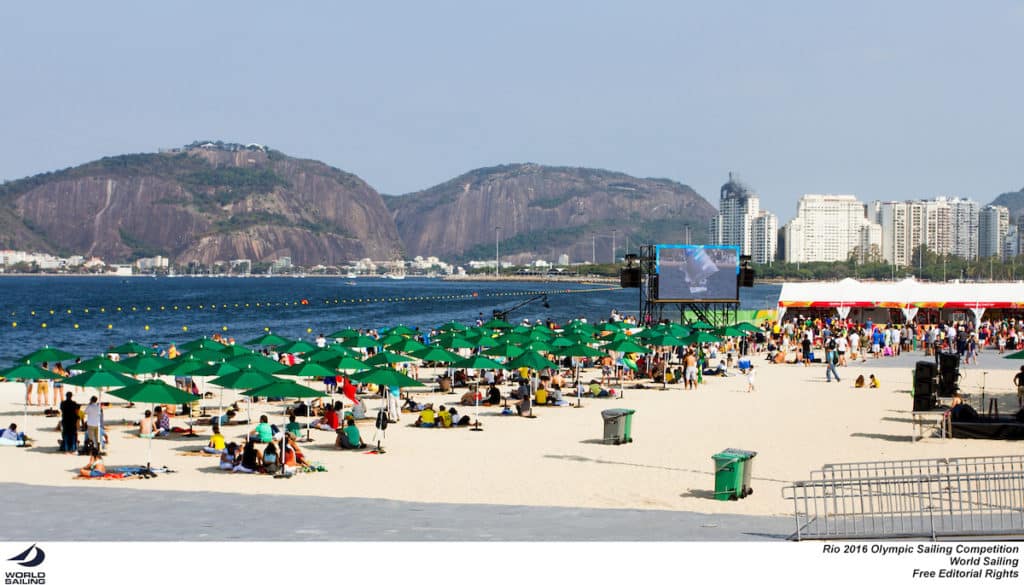
[[[392,259],[401,241],[357,176],[264,147],[196,142],[0,185],[0,247],[178,263]]]

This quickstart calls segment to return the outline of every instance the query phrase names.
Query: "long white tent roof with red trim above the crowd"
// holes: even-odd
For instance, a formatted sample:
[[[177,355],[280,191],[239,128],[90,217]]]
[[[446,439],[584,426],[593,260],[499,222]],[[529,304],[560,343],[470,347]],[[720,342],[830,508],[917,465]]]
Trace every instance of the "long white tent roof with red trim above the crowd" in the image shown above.
[[[786,283],[779,307],[1024,308],[1024,283]]]

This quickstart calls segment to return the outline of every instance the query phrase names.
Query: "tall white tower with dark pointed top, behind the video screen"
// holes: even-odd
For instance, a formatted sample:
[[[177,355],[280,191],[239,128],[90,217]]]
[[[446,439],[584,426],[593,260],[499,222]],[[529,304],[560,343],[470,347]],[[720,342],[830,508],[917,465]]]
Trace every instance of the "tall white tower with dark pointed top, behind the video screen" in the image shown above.
[[[767,264],[775,258],[778,218],[761,210],[761,200],[750,187],[734,179],[722,185],[718,215],[709,225],[712,244],[738,246],[740,254],[755,263]]]

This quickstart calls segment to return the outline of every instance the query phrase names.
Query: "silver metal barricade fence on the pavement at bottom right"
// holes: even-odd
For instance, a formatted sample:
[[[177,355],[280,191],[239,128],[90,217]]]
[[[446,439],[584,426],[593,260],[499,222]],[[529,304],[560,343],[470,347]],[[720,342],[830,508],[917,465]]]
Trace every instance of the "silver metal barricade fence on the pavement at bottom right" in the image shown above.
[[[1017,461],[1013,461],[1016,458]],[[1024,472],[1012,456],[825,465],[783,488],[792,538],[1024,535]],[[923,472],[896,474],[898,470]]]

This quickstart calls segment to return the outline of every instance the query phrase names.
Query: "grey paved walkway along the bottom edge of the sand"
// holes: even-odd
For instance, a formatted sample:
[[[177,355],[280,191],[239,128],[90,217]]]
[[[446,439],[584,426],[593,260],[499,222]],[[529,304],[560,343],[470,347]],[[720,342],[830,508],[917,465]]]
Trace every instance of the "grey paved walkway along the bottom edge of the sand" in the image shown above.
[[[781,541],[795,530],[792,517],[0,486],[11,541]],[[138,530],[158,513],[171,532]]]

